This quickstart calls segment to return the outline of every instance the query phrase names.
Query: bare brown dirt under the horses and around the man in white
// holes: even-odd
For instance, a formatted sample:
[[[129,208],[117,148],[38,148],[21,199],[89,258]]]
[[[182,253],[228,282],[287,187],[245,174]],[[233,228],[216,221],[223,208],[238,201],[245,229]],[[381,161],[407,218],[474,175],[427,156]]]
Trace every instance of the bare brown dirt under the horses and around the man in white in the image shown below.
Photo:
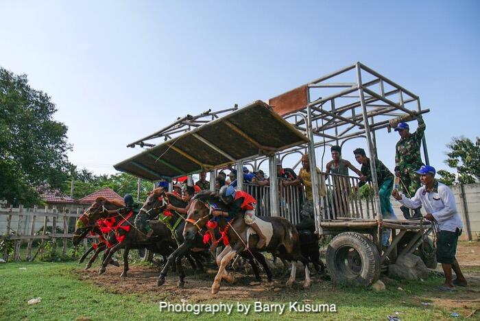
[[[457,287],[455,296],[436,292],[432,289],[427,295],[420,298],[425,300],[428,305],[438,305],[442,307],[451,307],[452,309],[477,309],[480,307],[480,242],[466,243],[461,242],[457,248],[457,259],[461,268],[466,272],[469,285],[466,288]],[[184,264],[187,266],[187,264]],[[279,265],[281,266],[281,265]],[[280,270],[280,269],[279,269]],[[302,270],[302,269],[298,269]],[[437,271],[441,271],[440,265]],[[204,302],[216,300],[217,296],[211,294],[211,285],[215,276],[215,270],[207,270],[207,273],[192,275],[192,271],[186,269],[184,289],[177,287],[178,277],[176,273],[169,272],[165,285],[158,287],[156,281],[160,268],[143,267],[130,265],[128,277],[121,278],[121,268],[109,265],[107,272],[98,275],[95,268],[90,270],[75,270],[77,277],[91,282],[99,287],[105,287],[112,293],[136,293],[151,294],[152,298],[158,300],[165,298],[168,300],[189,300],[190,302]],[[223,298],[235,298],[236,300],[285,300],[285,281],[287,276],[274,276],[273,283],[256,282],[252,274],[234,272],[235,283],[228,284],[222,282],[221,295]],[[265,275],[262,274],[265,280]],[[303,276],[297,273],[297,282],[293,289],[287,289],[291,296],[305,296],[307,292],[302,289]],[[389,287],[387,283],[387,287]],[[328,281],[326,275],[313,275],[310,293],[329,293],[335,291],[335,285]],[[453,299],[455,298],[455,300]],[[418,298],[416,298],[418,300]],[[480,313],[480,311],[479,311]]]

